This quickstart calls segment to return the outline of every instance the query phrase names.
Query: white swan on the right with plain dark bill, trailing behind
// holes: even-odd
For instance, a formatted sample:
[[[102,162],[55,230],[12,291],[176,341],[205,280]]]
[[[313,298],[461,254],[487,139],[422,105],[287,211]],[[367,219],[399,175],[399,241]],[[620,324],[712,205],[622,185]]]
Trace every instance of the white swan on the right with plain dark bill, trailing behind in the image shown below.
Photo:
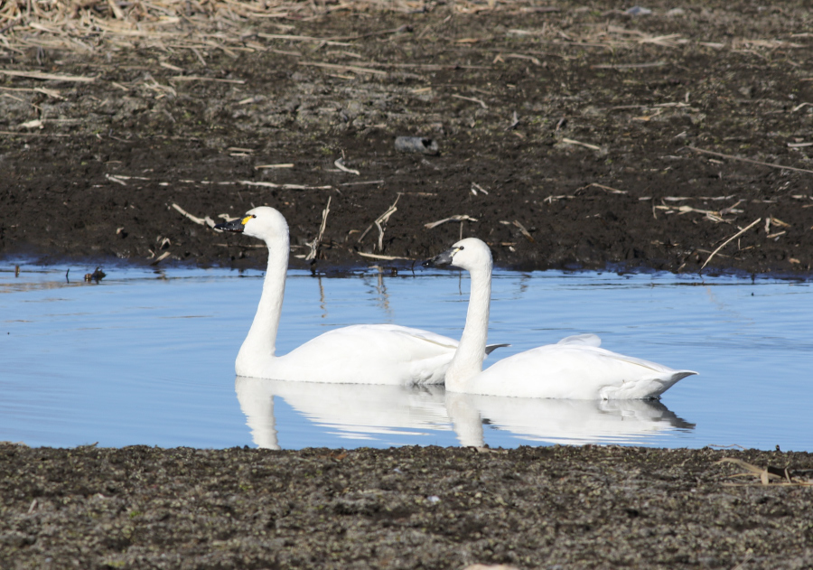
[[[427,262],[469,271],[472,293],[466,324],[446,390],[490,396],[571,399],[656,398],[677,382],[696,374],[673,370],[599,348],[594,334],[567,337],[558,344],[526,350],[482,369],[491,301],[491,251],[477,238],[466,238]]]

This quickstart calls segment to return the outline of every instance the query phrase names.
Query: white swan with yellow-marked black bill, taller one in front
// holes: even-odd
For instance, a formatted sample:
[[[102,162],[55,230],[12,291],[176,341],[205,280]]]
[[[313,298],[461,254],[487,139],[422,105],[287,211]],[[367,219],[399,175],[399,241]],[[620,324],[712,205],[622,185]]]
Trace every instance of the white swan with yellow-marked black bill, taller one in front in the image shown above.
[[[334,329],[284,356],[276,356],[276,333],[288,268],[288,224],[277,210],[260,206],[248,210],[241,219],[215,228],[245,233],[264,240],[268,246],[263,293],[235,362],[238,376],[342,384],[444,381],[457,341],[396,324],[357,324]]]

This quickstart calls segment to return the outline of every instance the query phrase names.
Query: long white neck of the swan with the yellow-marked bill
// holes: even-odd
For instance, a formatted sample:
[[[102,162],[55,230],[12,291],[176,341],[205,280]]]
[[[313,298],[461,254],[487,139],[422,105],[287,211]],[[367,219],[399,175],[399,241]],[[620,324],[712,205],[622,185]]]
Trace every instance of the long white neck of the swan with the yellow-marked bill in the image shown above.
[[[268,246],[268,268],[263,280],[263,294],[257,306],[257,314],[248,331],[246,340],[240,347],[236,371],[239,376],[257,376],[255,370],[274,359],[276,353],[276,332],[279,330],[279,316],[285,296],[285,272],[288,270],[288,236],[266,241]]]

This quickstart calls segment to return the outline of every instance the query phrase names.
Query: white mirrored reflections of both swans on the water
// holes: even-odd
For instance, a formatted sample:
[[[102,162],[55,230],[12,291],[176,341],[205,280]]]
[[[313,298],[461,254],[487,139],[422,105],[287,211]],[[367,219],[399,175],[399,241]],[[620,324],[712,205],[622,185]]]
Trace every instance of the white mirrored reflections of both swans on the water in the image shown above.
[[[478,396],[442,386],[406,387],[266,378],[235,379],[240,409],[258,447],[280,449],[274,397],[281,397],[323,432],[351,439],[453,430],[462,445],[488,444],[483,425],[514,436],[517,444],[646,444],[655,435],[691,430],[658,400],[562,400]],[[318,436],[307,446],[321,445]],[[412,443],[418,444],[419,441]]]

